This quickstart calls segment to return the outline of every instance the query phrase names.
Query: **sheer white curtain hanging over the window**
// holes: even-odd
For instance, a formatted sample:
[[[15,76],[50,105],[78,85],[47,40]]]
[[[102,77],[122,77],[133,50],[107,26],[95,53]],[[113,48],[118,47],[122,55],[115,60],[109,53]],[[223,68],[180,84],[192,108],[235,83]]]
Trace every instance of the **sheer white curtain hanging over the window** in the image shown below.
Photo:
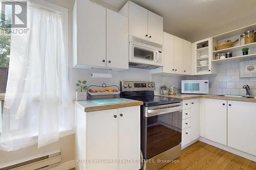
[[[27,34],[11,35],[0,150],[38,148],[73,133],[68,56],[60,13],[28,7]]]

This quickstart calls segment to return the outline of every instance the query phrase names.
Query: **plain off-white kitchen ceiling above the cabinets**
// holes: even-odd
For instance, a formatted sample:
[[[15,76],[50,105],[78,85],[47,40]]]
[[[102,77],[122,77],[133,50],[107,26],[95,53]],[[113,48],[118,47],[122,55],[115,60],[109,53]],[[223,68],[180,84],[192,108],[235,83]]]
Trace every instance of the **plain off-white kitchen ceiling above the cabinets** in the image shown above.
[[[127,0],[101,0],[117,10]],[[164,31],[197,41],[256,22],[255,0],[132,0],[164,18]]]

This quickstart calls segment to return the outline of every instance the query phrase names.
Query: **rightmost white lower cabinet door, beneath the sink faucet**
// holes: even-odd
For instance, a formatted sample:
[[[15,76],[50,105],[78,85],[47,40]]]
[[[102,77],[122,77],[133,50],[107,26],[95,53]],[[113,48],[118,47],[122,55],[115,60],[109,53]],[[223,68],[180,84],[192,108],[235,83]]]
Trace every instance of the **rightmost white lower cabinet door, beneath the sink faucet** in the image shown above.
[[[228,147],[256,156],[256,103],[228,101],[227,104]]]

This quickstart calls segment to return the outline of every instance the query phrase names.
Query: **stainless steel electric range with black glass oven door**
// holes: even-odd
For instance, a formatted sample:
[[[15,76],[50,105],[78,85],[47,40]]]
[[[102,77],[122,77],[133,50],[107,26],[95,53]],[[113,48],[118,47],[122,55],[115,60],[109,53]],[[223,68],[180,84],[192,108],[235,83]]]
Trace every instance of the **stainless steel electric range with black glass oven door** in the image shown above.
[[[181,154],[182,100],[155,96],[155,82],[120,82],[121,98],[142,101],[143,169],[156,170]]]

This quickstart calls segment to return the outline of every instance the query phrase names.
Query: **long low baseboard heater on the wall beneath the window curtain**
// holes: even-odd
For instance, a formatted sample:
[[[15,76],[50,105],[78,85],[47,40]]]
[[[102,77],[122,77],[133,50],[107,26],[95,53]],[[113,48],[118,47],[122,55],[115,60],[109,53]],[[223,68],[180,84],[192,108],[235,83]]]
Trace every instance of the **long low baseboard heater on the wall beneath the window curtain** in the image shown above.
[[[49,155],[36,157],[27,161],[16,164],[0,167],[0,170],[44,170],[60,164],[60,152],[55,152]]]

